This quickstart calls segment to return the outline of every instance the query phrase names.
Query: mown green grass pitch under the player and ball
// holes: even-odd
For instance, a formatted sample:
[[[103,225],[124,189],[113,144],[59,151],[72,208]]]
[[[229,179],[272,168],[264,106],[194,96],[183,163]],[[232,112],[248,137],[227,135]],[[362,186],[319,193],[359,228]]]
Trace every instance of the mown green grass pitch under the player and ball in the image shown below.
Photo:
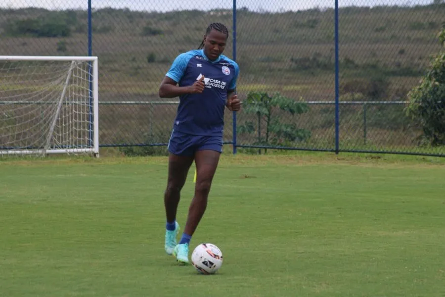
[[[165,157],[3,159],[0,296],[444,296],[444,161],[223,155],[201,276],[163,250]]]

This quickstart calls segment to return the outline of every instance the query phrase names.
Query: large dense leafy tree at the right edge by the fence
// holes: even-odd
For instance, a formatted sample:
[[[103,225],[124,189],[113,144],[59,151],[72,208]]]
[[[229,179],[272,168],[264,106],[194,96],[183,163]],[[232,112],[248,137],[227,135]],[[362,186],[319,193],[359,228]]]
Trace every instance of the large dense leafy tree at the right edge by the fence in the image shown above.
[[[439,33],[439,41],[444,50],[432,57],[430,69],[408,93],[406,108],[432,146],[445,145],[445,28]]]

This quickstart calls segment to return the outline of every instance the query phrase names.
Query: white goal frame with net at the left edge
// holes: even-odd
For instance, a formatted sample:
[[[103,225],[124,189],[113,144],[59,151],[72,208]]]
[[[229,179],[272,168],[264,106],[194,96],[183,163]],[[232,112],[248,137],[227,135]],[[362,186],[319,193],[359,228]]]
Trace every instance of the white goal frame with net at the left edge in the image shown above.
[[[0,155],[99,153],[96,56],[0,56]]]

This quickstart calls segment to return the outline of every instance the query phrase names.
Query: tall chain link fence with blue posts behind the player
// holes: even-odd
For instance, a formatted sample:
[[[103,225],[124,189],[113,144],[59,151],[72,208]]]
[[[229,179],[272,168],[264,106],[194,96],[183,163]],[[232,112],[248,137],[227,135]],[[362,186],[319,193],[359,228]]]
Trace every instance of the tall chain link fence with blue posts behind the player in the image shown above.
[[[89,22],[87,0],[11,1],[0,10],[0,50],[98,56],[100,146],[165,146],[178,99],[160,99],[160,82],[179,53],[196,49],[207,26],[221,22],[243,100],[235,122],[225,114],[227,144],[255,153],[445,155],[444,146],[423,145],[423,127],[405,112],[407,93],[443,50],[443,1],[340,1],[337,36],[334,4],[238,0],[234,15],[234,1],[92,0]]]

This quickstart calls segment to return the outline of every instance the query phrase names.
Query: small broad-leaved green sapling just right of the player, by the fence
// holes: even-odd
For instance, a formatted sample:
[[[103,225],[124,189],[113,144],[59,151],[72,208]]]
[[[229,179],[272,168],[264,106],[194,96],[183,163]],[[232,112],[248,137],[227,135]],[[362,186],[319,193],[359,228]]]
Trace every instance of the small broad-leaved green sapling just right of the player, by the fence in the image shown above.
[[[304,141],[311,137],[311,132],[305,129],[298,129],[294,123],[284,123],[278,117],[275,110],[282,110],[292,117],[309,111],[306,102],[296,101],[292,98],[281,96],[275,93],[269,96],[266,92],[250,92],[243,102],[243,110],[247,114],[256,114],[258,124],[246,121],[238,126],[238,133],[252,134],[258,133],[256,145],[262,146],[289,146],[292,142]],[[261,122],[266,122],[266,132],[263,136]]]

